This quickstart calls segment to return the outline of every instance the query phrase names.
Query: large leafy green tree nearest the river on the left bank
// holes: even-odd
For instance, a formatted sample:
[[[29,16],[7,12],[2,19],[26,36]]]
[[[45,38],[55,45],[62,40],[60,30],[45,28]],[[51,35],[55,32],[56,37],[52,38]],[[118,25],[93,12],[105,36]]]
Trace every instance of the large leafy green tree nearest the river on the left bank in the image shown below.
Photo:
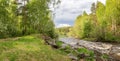
[[[54,23],[49,10],[50,0],[31,0],[23,10],[23,34],[42,33],[54,37]],[[36,30],[35,30],[36,29]]]

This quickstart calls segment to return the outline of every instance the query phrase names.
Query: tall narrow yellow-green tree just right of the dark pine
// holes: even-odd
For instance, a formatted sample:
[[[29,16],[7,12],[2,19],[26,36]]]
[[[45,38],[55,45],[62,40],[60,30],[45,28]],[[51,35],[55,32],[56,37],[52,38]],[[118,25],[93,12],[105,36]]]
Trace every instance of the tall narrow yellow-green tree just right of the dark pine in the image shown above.
[[[105,6],[101,2],[97,2],[96,16],[97,16],[97,39],[105,40],[107,21],[105,20]],[[99,32],[99,33],[98,33]]]

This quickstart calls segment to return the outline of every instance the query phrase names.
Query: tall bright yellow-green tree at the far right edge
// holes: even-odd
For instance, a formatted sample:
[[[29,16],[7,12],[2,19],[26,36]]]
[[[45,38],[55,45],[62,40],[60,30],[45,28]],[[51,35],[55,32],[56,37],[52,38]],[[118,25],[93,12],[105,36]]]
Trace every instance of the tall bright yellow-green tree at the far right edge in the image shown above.
[[[112,39],[115,37],[120,37],[120,1],[118,0],[107,0],[106,1],[106,10],[105,16],[108,20],[108,30],[109,36],[111,35]],[[110,37],[107,37],[107,39]]]

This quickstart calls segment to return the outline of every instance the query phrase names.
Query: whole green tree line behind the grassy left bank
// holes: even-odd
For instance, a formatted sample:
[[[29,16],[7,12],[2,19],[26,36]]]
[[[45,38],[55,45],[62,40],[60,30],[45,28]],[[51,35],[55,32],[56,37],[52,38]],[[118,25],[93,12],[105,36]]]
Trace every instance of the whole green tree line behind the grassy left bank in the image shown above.
[[[49,7],[53,2],[58,3],[56,0],[0,0],[0,38],[36,33],[54,38]]]

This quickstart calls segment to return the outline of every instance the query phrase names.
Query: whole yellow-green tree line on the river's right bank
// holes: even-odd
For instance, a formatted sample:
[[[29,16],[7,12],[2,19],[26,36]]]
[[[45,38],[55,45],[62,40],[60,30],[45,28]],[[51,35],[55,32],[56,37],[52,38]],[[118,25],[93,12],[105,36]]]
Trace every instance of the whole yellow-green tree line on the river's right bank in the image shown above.
[[[76,38],[94,38],[96,41],[120,42],[120,1],[106,0],[93,3],[90,14],[85,11],[75,20],[68,33]]]

